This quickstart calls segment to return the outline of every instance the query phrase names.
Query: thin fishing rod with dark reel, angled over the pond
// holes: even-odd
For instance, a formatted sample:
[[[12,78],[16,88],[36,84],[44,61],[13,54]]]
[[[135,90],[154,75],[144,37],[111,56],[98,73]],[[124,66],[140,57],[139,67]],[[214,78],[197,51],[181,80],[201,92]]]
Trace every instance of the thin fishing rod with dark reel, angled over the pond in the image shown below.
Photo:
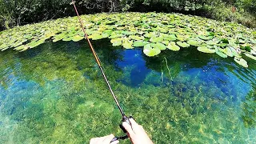
[[[82,31],[83,31],[83,33],[84,33],[84,37],[86,38],[86,40],[87,40],[87,42],[88,42],[88,44],[89,44],[89,46],[90,46],[90,50],[91,50],[91,51],[93,52],[93,54],[94,54],[94,58],[95,58],[96,62],[98,63],[98,67],[99,67],[99,69],[100,69],[101,72],[102,72],[102,76],[103,76],[103,78],[104,78],[104,80],[105,80],[105,82],[106,82],[106,85],[108,86],[108,88],[109,88],[109,90],[110,90],[110,93],[111,93],[111,95],[112,95],[113,98],[114,98],[114,102],[116,103],[116,105],[118,106],[118,110],[119,110],[120,113],[122,114],[122,122],[127,122],[127,123],[131,126],[131,123],[130,123],[129,118],[126,117],[126,114],[125,114],[124,111],[122,110],[122,107],[120,106],[120,104],[119,104],[119,102],[118,102],[118,99],[117,99],[117,97],[115,96],[114,91],[112,90],[112,88],[111,88],[111,86],[110,86],[110,82],[109,82],[108,79],[106,78],[106,74],[105,74],[104,70],[102,69],[102,63],[101,63],[100,59],[98,58],[98,55],[97,55],[96,51],[94,50],[94,47],[93,47],[92,44],[90,43],[90,39],[88,38],[88,35],[86,34],[86,30],[85,30],[85,28],[84,28],[84,26],[83,26],[83,23],[82,23],[82,20],[81,20],[79,14],[78,14],[78,9],[77,9],[77,7],[76,7],[75,4],[74,4],[74,0],[72,0],[72,3],[73,3],[73,5],[74,5],[74,10],[75,10],[75,12],[76,12],[76,14],[77,14],[77,16],[78,16],[80,25],[81,25],[81,27],[82,27]],[[122,131],[123,131],[124,133],[127,132],[127,131],[125,130],[125,128],[122,126],[122,124],[120,125],[120,128],[122,129]],[[115,137],[115,138],[112,139],[111,142],[117,141],[118,139],[126,139],[126,138],[128,138],[127,135],[126,135],[126,136],[123,136],[123,137]]]

